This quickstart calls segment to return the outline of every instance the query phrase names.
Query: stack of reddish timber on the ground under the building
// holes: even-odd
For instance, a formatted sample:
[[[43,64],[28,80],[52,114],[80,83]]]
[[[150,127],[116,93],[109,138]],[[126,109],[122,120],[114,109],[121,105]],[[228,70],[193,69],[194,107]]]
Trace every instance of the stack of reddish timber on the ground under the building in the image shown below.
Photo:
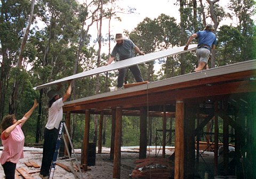
[[[170,179],[174,176],[174,164],[167,158],[146,158],[136,160],[132,171],[133,179]]]

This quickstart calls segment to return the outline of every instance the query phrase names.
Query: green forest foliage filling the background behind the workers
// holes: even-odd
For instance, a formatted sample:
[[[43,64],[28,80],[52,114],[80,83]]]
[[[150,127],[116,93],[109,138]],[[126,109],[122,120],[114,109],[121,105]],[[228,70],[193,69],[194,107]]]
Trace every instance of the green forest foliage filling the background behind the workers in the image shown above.
[[[19,82],[19,98],[17,99],[18,109],[17,118],[21,118],[28,109],[33,105],[33,100],[39,99],[38,91],[32,88],[47,82],[52,82],[63,77],[73,75],[74,64],[79,47],[81,37],[84,40],[77,72],[94,69],[97,66],[98,47],[93,43],[88,31],[82,31],[83,22],[89,17],[89,13],[97,6],[98,1],[94,1],[94,5],[86,6],[79,5],[77,1],[70,0],[43,0],[38,1],[35,6],[34,26],[30,30],[25,51],[23,55],[24,69],[15,68],[19,55],[20,42],[23,35],[23,30],[27,25],[30,1],[1,1],[0,4],[0,56],[1,59],[1,84],[4,92],[5,101],[4,108],[1,109],[6,115],[8,113],[9,97],[12,94],[13,84],[15,80]],[[108,3],[108,1],[104,1]],[[112,4],[115,5],[115,4]],[[112,7],[112,6],[111,6]],[[255,13],[255,1],[252,0],[231,0],[229,9],[233,12],[229,17],[237,17],[237,27],[221,26],[218,29],[218,44],[216,49],[216,64],[223,66],[226,64],[236,63],[239,61],[256,59],[256,27],[252,19]],[[197,10],[202,7],[197,7]],[[209,9],[205,7],[204,9]],[[134,9],[130,9],[133,12]],[[218,21],[221,22],[226,17],[226,12],[218,4],[214,5],[214,11]],[[254,11],[254,12],[253,12]],[[113,9],[103,10],[106,18],[115,18],[121,20],[116,14],[113,14]],[[112,14],[111,14],[112,13]],[[203,29],[202,11],[196,14],[197,24],[194,24],[194,10],[191,3],[185,5],[183,9],[183,19],[185,19],[184,27],[186,27],[187,37],[195,32],[195,27]],[[209,12],[206,12],[206,18],[209,17]],[[94,19],[95,20],[95,19]],[[42,29],[41,23],[44,27]],[[40,27],[40,29],[39,29]],[[145,53],[151,53],[159,50],[165,50],[174,46],[184,45],[181,42],[187,39],[181,36],[181,27],[179,23],[169,15],[161,14],[155,19],[145,18],[131,32],[126,32],[127,36],[141,48]],[[82,35],[82,36],[81,36]],[[104,35],[103,35],[104,36]],[[103,40],[103,46],[107,45],[108,34]],[[186,36],[186,35],[185,35]],[[110,37],[113,40],[113,37]],[[106,41],[105,41],[106,40]],[[106,64],[108,54],[101,54],[100,66]],[[178,76],[181,71],[180,55],[170,56],[166,59],[158,59],[161,63],[161,69],[154,71],[156,62],[140,64],[143,78],[149,81],[170,78]],[[197,65],[197,60],[194,52],[185,54],[185,73],[189,73],[191,69]],[[27,67],[26,67],[27,66]],[[31,67],[31,69],[30,69]],[[116,86],[117,71],[108,72],[107,84],[105,84],[105,74],[100,74],[100,93],[106,92],[106,85]],[[134,82],[134,77],[131,73],[127,74],[127,81]],[[66,84],[65,84],[66,85]],[[73,99],[79,99],[95,94],[96,76],[86,77],[76,80],[76,94]],[[4,90],[6,88],[6,91]],[[47,120],[47,96],[43,91],[42,99],[42,119],[41,133],[43,132]],[[37,111],[29,118],[23,126],[23,132],[26,135],[26,143],[35,141],[35,132],[37,124]],[[76,147],[81,147],[84,133],[84,115],[72,115],[74,120],[74,143]],[[91,115],[93,118],[93,115]],[[162,119],[152,118],[153,121],[153,136],[156,136],[156,128],[162,128]],[[106,121],[106,146],[110,147],[111,137],[111,118]],[[170,124],[167,123],[167,128]],[[221,128],[221,126],[220,126]],[[90,141],[93,140],[94,124],[90,123]],[[222,129],[220,129],[222,130]],[[221,131],[220,131],[221,132]],[[123,116],[123,133],[122,145],[139,145],[139,117]],[[162,135],[162,134],[160,134]]]

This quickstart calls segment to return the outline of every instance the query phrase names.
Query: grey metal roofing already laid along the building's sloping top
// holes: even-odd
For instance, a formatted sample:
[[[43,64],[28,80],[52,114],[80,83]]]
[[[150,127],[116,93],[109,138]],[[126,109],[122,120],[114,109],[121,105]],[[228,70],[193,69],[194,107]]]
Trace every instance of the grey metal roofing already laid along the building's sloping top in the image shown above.
[[[93,95],[93,96],[83,97],[81,99],[77,99],[77,100],[73,100],[73,101],[67,101],[64,104],[67,105],[67,104],[73,104],[73,103],[78,103],[78,102],[83,102],[83,101],[100,99],[102,97],[115,96],[115,95],[124,94],[124,93],[150,90],[150,89],[156,88],[156,87],[162,87],[162,86],[167,86],[167,85],[173,85],[173,84],[188,82],[188,81],[191,81],[191,80],[200,80],[200,79],[203,79],[203,78],[226,75],[226,74],[232,74],[232,73],[235,73],[235,72],[250,71],[250,70],[255,70],[254,75],[256,76],[256,60],[229,64],[227,66],[211,68],[211,69],[208,69],[208,70],[193,72],[191,74],[180,75],[180,76],[177,76],[177,77],[158,80],[156,82],[151,82],[151,83],[144,84],[144,85],[125,88],[125,89],[119,90],[119,91],[107,92],[107,93],[97,94],[97,95]]]

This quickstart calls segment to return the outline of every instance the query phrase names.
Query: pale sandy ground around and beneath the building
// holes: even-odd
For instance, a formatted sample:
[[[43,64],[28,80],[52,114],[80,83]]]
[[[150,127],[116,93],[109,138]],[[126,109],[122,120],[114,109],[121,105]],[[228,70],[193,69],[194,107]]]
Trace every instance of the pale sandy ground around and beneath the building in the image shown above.
[[[121,178],[122,179],[131,179],[129,176],[132,173],[133,168],[135,167],[134,161],[139,158],[139,153],[137,147],[123,147],[121,149]],[[0,154],[2,154],[2,149],[0,148]],[[126,151],[126,152],[125,152]],[[98,152],[98,151],[97,151]],[[113,178],[113,162],[109,160],[109,148],[102,148],[102,154],[96,154],[95,166],[90,166],[91,170],[87,172],[82,172],[85,179],[110,179]],[[171,154],[173,150],[168,150],[167,154]],[[76,150],[78,161],[81,161],[81,150]],[[147,157],[155,157],[156,154],[160,155],[161,151],[158,153],[154,149],[148,150]],[[24,158],[20,159],[17,168],[25,168],[28,172],[39,170],[34,167],[27,167],[24,162],[29,160],[35,161],[38,165],[41,165],[42,160],[42,149],[39,148],[24,148]],[[58,159],[57,162],[61,162],[67,166],[70,165],[70,161],[65,159]],[[31,174],[35,179],[40,179],[39,173]],[[0,166],[0,179],[4,178],[3,167]],[[23,178],[20,176],[19,178]],[[54,172],[54,178],[75,178],[73,173],[67,172],[65,169],[56,166]]]

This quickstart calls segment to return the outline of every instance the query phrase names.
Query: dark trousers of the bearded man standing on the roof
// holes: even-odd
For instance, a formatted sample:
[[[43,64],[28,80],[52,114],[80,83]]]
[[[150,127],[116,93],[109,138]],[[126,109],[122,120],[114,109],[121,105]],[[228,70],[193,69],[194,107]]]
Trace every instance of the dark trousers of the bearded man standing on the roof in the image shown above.
[[[143,82],[143,78],[142,78],[138,64],[135,64],[134,66],[129,67],[129,69],[131,70],[137,83]],[[127,71],[127,68],[122,68],[122,69],[119,69],[118,71],[119,71],[119,74],[118,74],[118,78],[117,78],[117,87],[122,87],[123,83],[124,83],[124,76]]]

